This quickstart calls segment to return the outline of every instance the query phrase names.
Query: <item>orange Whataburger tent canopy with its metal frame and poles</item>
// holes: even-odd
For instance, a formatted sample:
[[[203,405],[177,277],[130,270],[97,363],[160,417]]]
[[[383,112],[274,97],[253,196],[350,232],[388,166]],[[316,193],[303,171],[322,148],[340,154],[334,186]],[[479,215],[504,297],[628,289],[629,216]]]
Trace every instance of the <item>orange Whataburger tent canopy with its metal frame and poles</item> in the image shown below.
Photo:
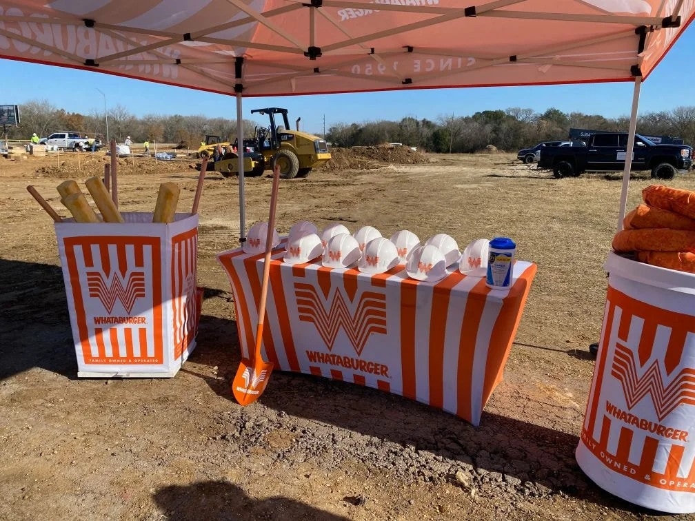
[[[0,58],[236,94],[239,138],[242,96],[635,81],[634,133],[639,84],[694,16],[695,0],[0,0]],[[243,176],[240,206],[243,237]]]

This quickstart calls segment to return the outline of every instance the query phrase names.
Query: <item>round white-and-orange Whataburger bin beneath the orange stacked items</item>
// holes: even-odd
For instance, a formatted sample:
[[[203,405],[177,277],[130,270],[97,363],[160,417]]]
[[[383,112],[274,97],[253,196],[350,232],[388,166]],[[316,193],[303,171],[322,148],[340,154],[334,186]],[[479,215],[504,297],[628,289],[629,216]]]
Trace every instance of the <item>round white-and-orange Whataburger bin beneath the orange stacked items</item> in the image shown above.
[[[695,512],[695,274],[611,252],[603,327],[576,458],[598,486]]]

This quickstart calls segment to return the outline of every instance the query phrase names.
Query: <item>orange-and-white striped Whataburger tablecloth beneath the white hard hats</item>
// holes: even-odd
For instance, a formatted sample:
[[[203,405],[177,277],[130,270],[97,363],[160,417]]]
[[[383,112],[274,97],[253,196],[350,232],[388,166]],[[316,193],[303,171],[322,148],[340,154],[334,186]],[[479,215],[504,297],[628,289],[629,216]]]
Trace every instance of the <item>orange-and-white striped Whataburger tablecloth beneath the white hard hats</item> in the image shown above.
[[[277,249],[263,328],[265,359],[280,370],[352,381],[442,408],[479,424],[502,379],[536,265],[518,261],[508,291],[455,271],[437,283],[282,261]],[[224,251],[242,356],[255,345],[263,255]]]

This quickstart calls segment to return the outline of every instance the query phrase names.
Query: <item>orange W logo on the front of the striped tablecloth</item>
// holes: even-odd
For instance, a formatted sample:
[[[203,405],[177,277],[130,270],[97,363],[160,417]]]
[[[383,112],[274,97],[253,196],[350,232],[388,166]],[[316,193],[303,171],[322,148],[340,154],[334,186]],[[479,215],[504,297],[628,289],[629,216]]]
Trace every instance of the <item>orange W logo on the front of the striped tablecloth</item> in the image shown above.
[[[359,302],[354,313],[341,292],[333,293],[331,301],[325,301],[310,284],[295,283],[297,311],[302,322],[311,322],[316,326],[329,351],[338,338],[338,331],[343,328],[357,356],[372,333],[386,335],[386,297],[373,291],[359,292]],[[354,301],[349,301],[354,307]]]

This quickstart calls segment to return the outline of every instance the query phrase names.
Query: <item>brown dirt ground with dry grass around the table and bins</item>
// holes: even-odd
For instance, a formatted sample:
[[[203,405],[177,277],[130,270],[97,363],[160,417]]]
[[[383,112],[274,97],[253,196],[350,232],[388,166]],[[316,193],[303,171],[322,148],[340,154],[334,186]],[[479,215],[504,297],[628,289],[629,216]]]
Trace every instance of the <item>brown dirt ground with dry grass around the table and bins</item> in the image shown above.
[[[234,302],[215,258],[238,245],[238,180],[214,172],[199,208],[197,349],[171,379],[78,379],[53,223],[26,186],[67,216],[56,185],[82,183],[108,159],[0,158],[0,518],[695,519],[617,499],[574,458],[620,176],[557,181],[514,154],[403,157],[341,155],[282,181],[277,229],[370,224],[385,236],[449,233],[461,248],[514,238],[518,258],[538,273],[480,427],[377,390],[282,372],[240,407],[229,392],[240,360]],[[121,159],[120,208],[152,211],[158,185],[173,181],[185,211],[194,167]],[[649,184],[632,179],[628,208]],[[267,219],[270,185],[268,176],[245,180],[247,227]],[[695,188],[692,174],[669,185]]]

